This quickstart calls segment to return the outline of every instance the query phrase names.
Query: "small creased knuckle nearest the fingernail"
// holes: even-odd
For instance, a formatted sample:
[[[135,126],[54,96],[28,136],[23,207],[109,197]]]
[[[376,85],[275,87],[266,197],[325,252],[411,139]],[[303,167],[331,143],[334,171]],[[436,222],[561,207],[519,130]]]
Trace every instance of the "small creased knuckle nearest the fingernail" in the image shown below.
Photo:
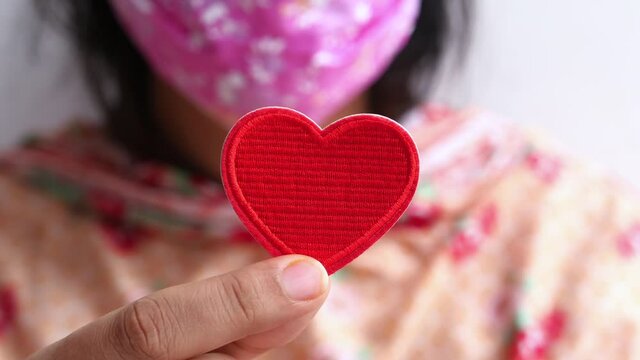
[[[225,276],[219,286],[221,303],[226,320],[232,326],[254,324],[257,319],[256,291],[252,284],[243,281],[235,274]]]

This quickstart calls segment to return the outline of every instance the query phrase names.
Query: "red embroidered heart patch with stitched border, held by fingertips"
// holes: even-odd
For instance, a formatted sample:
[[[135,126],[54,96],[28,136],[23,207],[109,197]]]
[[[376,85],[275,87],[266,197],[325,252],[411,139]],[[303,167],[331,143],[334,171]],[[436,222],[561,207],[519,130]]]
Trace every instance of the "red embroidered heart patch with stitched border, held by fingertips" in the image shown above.
[[[329,274],[382,237],[416,191],[415,143],[396,122],[353,115],[322,130],[269,107],[242,117],[222,153],[234,210],[272,255],[303,254]]]

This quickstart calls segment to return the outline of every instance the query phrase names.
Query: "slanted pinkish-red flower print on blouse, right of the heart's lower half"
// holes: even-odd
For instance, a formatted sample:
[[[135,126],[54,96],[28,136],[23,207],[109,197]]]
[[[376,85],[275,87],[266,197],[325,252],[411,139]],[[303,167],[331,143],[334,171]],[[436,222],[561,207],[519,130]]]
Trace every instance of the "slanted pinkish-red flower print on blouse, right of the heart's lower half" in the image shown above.
[[[473,218],[463,222],[460,231],[454,236],[450,253],[454,262],[462,262],[475,254],[488,236],[493,234],[498,220],[498,208],[495,204],[485,206]]]

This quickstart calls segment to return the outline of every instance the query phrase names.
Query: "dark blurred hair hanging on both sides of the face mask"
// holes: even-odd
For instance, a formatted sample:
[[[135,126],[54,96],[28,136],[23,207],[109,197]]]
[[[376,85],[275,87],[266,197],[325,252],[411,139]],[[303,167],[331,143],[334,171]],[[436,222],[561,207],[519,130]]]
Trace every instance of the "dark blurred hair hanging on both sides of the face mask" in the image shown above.
[[[77,50],[107,130],[131,151],[171,160],[151,111],[151,73],[123,31],[108,0],[34,0],[44,19],[63,25]],[[397,118],[424,101],[440,60],[453,43],[469,38],[471,0],[422,0],[407,46],[370,89],[374,112]],[[463,55],[463,51],[458,51]],[[416,81],[420,79],[420,81]]]

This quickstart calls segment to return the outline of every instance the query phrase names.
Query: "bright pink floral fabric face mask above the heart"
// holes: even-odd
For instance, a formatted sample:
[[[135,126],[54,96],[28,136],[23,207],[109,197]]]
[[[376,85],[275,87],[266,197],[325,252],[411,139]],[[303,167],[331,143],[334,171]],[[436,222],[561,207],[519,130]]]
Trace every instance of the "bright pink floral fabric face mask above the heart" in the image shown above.
[[[111,3],[156,73],[205,111],[236,119],[286,106],[320,124],[386,69],[420,6],[419,0]]]

